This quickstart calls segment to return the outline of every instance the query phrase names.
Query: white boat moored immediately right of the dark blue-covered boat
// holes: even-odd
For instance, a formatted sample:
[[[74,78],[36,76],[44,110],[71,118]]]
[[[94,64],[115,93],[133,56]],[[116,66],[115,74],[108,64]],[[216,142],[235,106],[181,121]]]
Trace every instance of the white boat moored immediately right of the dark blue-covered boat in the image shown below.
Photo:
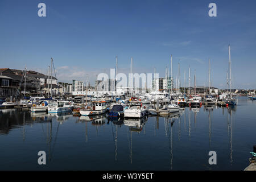
[[[147,113],[147,107],[142,102],[131,102],[125,109],[125,118],[142,118]]]

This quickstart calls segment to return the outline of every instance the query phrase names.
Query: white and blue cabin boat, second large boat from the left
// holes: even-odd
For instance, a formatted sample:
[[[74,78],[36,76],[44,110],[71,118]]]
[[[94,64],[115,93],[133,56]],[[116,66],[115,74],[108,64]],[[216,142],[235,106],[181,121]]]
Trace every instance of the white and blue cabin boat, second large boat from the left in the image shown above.
[[[57,101],[48,103],[48,113],[65,113],[71,112],[73,105],[68,101]]]

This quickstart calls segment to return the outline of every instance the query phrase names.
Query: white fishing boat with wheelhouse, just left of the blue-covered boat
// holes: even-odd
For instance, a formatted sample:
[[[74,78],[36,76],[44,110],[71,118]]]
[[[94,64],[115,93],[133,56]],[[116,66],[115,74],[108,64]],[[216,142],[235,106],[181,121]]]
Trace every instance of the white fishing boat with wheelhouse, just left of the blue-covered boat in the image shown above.
[[[92,106],[80,109],[79,112],[81,115],[99,115],[105,113],[106,110],[106,101],[93,101]]]

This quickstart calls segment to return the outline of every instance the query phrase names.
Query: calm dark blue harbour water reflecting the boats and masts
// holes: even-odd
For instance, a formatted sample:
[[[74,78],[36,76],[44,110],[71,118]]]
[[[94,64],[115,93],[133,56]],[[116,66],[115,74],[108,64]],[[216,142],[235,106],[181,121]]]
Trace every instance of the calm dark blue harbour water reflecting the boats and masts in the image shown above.
[[[0,169],[243,170],[256,144],[255,118],[247,97],[232,108],[186,107],[141,121],[0,110]],[[47,165],[38,164],[41,150]]]

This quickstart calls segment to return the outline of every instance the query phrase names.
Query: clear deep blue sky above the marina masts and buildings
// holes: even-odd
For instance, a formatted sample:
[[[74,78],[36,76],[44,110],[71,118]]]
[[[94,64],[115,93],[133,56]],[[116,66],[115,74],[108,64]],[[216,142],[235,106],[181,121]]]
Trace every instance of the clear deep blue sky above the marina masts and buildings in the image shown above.
[[[38,4],[46,3],[46,17]],[[208,5],[217,5],[217,17]],[[233,88],[256,89],[256,1],[0,1],[0,67],[47,72],[53,57],[59,81],[86,80],[115,67],[160,77],[180,63],[196,85],[226,88],[231,45]],[[188,84],[188,81],[187,81]],[[193,79],[191,81],[193,85]]]

